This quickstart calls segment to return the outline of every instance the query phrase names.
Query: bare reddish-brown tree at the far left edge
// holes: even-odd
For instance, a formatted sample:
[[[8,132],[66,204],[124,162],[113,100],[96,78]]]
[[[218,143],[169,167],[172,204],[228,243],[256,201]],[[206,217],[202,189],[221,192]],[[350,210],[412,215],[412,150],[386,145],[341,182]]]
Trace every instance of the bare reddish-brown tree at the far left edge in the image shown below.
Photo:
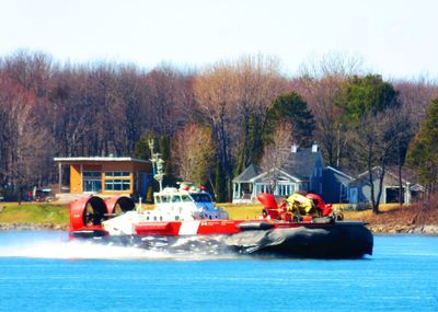
[[[19,190],[43,181],[51,151],[51,136],[42,124],[33,90],[25,90],[0,77],[0,182]]]

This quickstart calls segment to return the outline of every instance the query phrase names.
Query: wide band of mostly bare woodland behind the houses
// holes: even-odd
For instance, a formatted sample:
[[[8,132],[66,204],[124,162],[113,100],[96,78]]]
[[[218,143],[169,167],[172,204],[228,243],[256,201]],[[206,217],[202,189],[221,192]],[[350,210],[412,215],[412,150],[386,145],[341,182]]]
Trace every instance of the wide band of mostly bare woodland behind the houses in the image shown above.
[[[407,160],[435,192],[437,177],[423,173],[414,151],[430,143],[422,136],[431,131],[424,125],[436,99],[436,81],[385,81],[336,55],[289,76],[263,55],[200,70],[146,70],[16,51],[0,58],[0,187],[57,181],[54,157],[149,158],[153,138],[169,183],[206,184],[220,201],[251,163],[280,163],[278,150],[312,142],[327,165],[368,170],[370,180],[388,167],[401,172]]]

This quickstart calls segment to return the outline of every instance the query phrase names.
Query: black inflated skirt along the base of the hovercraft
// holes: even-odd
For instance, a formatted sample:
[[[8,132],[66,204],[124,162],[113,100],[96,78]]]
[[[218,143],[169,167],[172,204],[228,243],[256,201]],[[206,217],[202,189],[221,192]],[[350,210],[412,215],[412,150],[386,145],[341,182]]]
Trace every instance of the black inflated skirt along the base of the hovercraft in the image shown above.
[[[230,224],[227,226],[230,229]],[[157,228],[158,229],[158,228]],[[94,233],[94,235],[93,235]],[[270,223],[243,221],[228,232],[208,234],[108,235],[105,231],[70,233],[78,239],[169,253],[227,253],[311,258],[357,258],[372,254],[373,238],[362,222]]]

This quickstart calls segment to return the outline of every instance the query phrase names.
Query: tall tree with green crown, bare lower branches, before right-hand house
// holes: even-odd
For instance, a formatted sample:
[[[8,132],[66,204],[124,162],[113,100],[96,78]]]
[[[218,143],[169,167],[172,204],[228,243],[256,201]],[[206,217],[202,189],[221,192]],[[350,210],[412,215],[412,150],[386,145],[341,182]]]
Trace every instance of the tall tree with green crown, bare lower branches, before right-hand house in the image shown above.
[[[380,76],[355,76],[343,86],[338,105],[351,138],[350,160],[368,171],[372,211],[378,213],[385,170],[406,127],[397,112],[397,92]],[[379,181],[377,194],[374,177]]]

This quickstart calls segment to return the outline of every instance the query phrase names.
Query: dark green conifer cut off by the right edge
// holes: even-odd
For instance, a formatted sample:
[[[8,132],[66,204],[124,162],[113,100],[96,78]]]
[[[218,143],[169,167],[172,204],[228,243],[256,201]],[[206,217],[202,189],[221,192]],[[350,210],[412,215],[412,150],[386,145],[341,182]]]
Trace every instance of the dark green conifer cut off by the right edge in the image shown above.
[[[435,194],[438,182],[438,99],[431,102],[426,119],[410,146],[407,162],[418,172],[427,192]]]

